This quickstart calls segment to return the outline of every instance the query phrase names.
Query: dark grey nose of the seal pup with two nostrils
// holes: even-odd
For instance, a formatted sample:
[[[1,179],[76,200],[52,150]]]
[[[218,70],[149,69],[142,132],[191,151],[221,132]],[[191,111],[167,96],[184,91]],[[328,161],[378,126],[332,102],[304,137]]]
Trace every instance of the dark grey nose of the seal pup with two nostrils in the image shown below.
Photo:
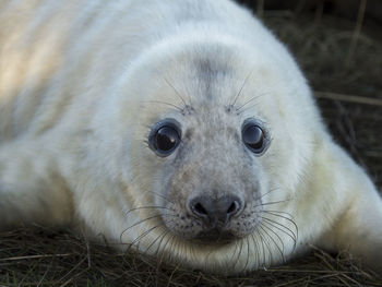
[[[225,195],[217,200],[204,195],[188,202],[189,211],[211,227],[225,226],[232,216],[242,211],[242,205],[237,195]]]

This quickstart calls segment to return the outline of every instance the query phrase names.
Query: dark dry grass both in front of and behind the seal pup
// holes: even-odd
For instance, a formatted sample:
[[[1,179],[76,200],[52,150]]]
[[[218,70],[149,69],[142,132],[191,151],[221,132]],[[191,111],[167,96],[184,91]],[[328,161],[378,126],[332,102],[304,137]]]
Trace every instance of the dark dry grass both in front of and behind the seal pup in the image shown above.
[[[359,34],[356,23],[326,15],[264,15],[306,71],[335,139],[382,187],[382,40],[368,36],[372,29]],[[37,228],[0,234],[0,286],[382,286],[382,280],[347,254],[317,249],[280,267],[227,278],[158,266]]]

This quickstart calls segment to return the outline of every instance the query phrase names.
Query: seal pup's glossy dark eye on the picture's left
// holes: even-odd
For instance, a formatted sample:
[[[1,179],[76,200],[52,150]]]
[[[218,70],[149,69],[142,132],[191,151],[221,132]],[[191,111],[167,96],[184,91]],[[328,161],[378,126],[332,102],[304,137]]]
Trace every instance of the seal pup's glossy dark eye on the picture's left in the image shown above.
[[[148,139],[150,147],[163,157],[170,155],[179,143],[179,124],[172,120],[164,120],[155,124]]]

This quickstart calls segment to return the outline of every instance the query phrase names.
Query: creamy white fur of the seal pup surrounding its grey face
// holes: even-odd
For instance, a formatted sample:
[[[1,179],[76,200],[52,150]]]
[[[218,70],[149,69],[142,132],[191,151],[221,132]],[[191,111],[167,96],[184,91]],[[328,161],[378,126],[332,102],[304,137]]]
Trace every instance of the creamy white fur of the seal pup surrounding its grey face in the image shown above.
[[[285,201],[274,208],[299,231],[295,250],[278,232],[283,255],[308,243],[348,248],[382,273],[381,198],[331,140],[288,51],[247,10],[227,0],[13,0],[0,1],[0,228],[71,225],[122,248],[141,236],[143,252],[224,273],[282,263],[259,236],[223,247],[155,241],[166,231],[155,228],[160,219],[138,224],[152,213],[129,212],[157,203],[151,191],[170,160],[146,146],[150,127],[169,117],[191,124],[170,106],[147,104],[182,105],[165,80],[207,109],[203,124],[225,120],[219,109],[250,75],[237,105],[259,98],[235,120],[256,117],[271,130],[255,159],[275,190],[264,200]],[[213,86],[219,97],[210,107],[189,68],[204,58],[232,71]]]

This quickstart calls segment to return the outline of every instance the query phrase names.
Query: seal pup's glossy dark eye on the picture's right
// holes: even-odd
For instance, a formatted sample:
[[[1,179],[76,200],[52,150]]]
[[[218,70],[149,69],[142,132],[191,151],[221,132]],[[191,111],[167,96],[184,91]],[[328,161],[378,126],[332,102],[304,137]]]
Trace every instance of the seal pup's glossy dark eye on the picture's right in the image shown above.
[[[242,142],[255,154],[261,154],[265,148],[265,134],[263,129],[254,120],[244,123],[241,131]]]

